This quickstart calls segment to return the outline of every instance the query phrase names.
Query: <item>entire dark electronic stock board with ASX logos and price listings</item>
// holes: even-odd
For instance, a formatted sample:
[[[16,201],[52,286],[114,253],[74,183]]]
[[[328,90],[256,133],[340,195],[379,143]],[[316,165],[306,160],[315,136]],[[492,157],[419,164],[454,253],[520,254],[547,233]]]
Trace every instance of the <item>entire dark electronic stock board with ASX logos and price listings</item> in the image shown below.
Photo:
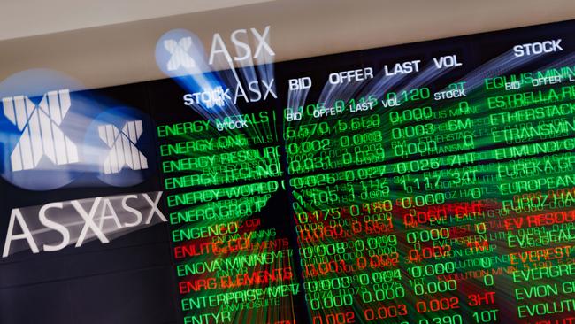
[[[574,21],[276,63],[273,42],[175,30],[165,80],[0,84],[0,319],[575,320]]]

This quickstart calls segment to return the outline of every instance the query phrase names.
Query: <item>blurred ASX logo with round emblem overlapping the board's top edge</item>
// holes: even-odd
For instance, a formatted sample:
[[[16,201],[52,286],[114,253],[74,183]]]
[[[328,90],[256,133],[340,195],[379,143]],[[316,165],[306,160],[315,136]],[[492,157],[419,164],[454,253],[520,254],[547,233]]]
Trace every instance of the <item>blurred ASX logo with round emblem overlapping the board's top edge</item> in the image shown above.
[[[216,33],[206,51],[197,35],[173,29],[156,44],[157,66],[188,90],[183,97],[188,106],[212,109],[277,99],[270,31],[266,26]]]

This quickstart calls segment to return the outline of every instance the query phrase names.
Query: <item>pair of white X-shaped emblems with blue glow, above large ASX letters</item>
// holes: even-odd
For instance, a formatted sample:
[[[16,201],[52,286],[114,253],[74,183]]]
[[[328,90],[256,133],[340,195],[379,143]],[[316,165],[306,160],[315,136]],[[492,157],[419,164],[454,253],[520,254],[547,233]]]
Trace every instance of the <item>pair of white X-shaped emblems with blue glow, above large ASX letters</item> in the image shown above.
[[[69,89],[47,91],[37,104],[34,99],[0,99],[4,117],[18,129],[3,134],[4,155],[10,157],[0,159],[4,179],[33,190],[58,189],[86,174],[120,187],[144,180],[149,164],[139,145],[147,134],[141,112],[113,108],[94,116],[93,107],[74,112]]]

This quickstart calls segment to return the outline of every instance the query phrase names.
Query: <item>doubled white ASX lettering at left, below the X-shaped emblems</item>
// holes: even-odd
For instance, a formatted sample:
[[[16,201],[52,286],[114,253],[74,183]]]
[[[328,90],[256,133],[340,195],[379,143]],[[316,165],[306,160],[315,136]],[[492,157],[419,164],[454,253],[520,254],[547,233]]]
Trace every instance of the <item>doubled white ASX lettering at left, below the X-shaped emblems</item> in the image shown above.
[[[93,197],[12,209],[2,258],[31,250],[60,251],[67,246],[112,239],[166,222],[158,204],[161,191]]]

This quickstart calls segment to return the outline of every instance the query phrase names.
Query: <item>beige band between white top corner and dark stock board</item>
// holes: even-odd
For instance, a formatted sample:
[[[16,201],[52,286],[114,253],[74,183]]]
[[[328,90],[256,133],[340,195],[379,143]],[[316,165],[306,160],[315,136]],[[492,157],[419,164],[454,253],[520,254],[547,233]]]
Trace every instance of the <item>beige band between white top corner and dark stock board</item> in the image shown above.
[[[33,67],[67,73],[87,88],[165,78],[154,48],[173,28],[193,31],[209,47],[213,33],[271,25],[281,61],[574,18],[572,0],[277,0],[3,41],[0,80]]]

